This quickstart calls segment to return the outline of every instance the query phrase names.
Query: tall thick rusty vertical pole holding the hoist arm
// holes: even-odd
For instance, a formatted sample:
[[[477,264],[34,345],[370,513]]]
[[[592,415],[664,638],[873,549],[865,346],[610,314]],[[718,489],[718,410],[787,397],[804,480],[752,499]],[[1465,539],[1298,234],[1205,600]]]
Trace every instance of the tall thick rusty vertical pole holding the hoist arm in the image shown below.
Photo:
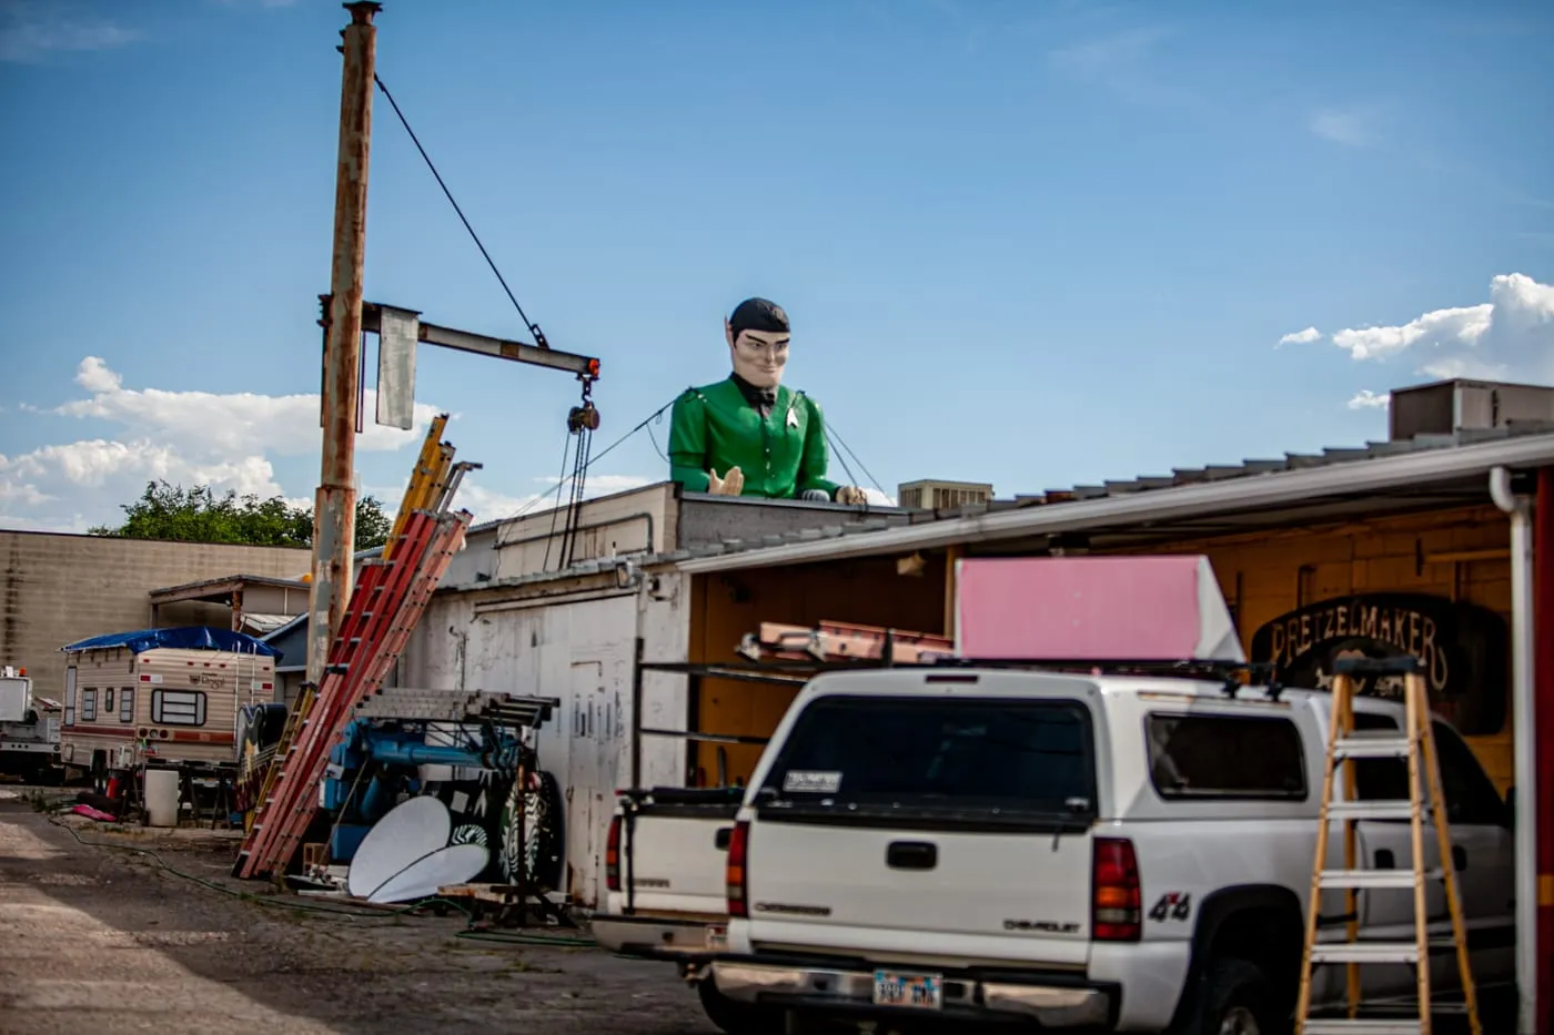
[[[308,600],[308,679],[323,679],[340,617],[351,598],[356,542],[356,421],[362,395],[362,263],[367,252],[367,165],[373,127],[373,68],[381,3],[347,3],[340,36],[340,143],[334,174],[334,258],[323,343],[323,463],[312,511]]]

